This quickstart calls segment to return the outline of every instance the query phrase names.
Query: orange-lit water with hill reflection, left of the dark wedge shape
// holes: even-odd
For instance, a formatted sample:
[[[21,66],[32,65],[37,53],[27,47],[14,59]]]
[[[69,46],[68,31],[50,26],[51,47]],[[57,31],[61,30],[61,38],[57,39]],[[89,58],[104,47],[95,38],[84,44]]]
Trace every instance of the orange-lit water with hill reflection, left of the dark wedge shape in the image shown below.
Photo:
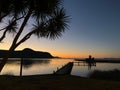
[[[35,74],[52,74],[57,70],[57,67],[62,67],[68,62],[73,60],[69,59],[27,59],[23,60],[23,75]],[[10,60],[5,65],[1,74],[12,72],[14,75],[20,75],[20,60]]]

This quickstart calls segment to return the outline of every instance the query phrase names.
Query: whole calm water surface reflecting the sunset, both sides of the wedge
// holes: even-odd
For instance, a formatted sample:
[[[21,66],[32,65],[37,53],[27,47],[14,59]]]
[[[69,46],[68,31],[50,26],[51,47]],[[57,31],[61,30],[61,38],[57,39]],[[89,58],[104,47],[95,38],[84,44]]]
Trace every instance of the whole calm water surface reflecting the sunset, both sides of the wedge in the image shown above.
[[[11,74],[19,76],[20,74],[20,60],[9,60],[2,70],[1,75]],[[73,62],[73,59],[35,59],[30,60],[23,64],[23,75],[36,75],[36,74],[52,74],[68,62]],[[96,67],[93,66],[89,69],[88,66],[84,66],[84,63],[74,64],[71,74],[77,76],[87,77],[94,70],[120,70],[120,63],[96,63]]]

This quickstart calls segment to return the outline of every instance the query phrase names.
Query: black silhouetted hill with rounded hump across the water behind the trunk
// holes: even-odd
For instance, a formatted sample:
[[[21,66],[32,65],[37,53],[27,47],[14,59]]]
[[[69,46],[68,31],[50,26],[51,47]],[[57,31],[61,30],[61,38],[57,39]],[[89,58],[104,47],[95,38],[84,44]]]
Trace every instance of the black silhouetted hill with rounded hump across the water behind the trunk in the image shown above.
[[[7,50],[0,50],[0,58],[6,55]],[[25,48],[21,51],[14,51],[9,58],[53,58],[48,52],[34,51],[29,48]]]

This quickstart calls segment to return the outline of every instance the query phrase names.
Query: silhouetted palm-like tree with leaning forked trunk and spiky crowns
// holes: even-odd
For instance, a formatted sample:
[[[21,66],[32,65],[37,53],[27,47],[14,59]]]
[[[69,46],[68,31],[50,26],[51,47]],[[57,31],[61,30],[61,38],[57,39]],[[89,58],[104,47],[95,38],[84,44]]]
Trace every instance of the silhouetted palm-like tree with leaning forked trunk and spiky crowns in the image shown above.
[[[3,0],[4,1],[4,0]],[[7,0],[6,11],[0,11],[0,18],[9,19],[9,24],[3,28],[4,32],[13,31],[16,32],[12,45],[9,48],[8,53],[0,63],[0,71],[4,67],[10,54],[23,42],[28,40],[31,35],[37,35],[39,38],[55,39],[62,35],[65,28],[68,26],[68,16],[66,16],[65,10],[62,7],[61,0]],[[4,6],[0,6],[4,7]],[[10,10],[8,10],[8,8]],[[4,13],[4,16],[2,16]],[[34,23],[28,23],[29,20]],[[21,24],[21,25],[20,25]],[[26,24],[30,24],[32,27],[28,33],[22,35]],[[3,33],[4,34],[4,33]]]

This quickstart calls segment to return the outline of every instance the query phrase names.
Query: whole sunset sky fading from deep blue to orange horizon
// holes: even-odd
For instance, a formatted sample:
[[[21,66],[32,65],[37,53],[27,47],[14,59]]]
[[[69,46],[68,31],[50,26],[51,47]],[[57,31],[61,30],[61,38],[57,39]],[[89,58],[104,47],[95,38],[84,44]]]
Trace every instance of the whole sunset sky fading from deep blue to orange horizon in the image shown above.
[[[120,58],[120,0],[64,0],[69,29],[56,40],[32,36],[16,50],[32,48],[64,58]],[[13,35],[0,44],[9,49]]]

